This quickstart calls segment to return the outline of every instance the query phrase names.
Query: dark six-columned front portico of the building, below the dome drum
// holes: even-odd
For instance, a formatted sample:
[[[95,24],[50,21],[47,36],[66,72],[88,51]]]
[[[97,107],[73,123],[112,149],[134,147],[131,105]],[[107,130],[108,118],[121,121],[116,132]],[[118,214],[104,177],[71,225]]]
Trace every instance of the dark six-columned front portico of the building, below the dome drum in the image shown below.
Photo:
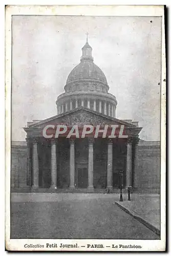
[[[85,113],[87,109],[81,107],[79,112]],[[91,110],[89,114],[90,112]],[[72,113],[62,115],[67,120],[67,116]],[[57,120],[54,117],[53,122],[57,121],[60,122],[60,118]],[[116,119],[112,121],[116,123]],[[43,122],[45,125],[46,120]],[[128,123],[127,125],[129,126]],[[27,185],[34,189],[113,189],[119,187],[119,172],[123,170],[123,186],[132,186],[132,162],[136,159],[132,148],[135,147],[134,141],[138,138],[139,130],[141,129],[132,125],[129,127],[130,135],[124,139],[95,139],[92,134],[83,139],[74,136],[46,139],[41,132],[42,122],[30,125],[25,129],[28,134]]]

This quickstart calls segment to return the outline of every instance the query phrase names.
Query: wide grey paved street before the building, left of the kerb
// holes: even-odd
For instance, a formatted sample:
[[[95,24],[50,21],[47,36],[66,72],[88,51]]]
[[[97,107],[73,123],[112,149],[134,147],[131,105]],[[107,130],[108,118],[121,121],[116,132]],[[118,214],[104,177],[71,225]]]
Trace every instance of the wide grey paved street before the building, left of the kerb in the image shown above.
[[[118,194],[12,194],[11,238],[160,239],[118,200]]]

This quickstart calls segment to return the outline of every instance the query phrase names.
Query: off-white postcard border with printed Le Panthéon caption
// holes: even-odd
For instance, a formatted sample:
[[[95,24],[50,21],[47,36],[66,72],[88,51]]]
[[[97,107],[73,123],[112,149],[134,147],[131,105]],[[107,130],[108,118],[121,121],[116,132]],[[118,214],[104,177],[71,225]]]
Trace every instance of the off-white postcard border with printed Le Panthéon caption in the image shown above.
[[[161,76],[161,240],[109,239],[10,239],[10,172],[11,172],[11,48],[12,15],[95,15],[95,16],[162,16],[162,76]],[[6,7],[6,249],[60,250],[62,244],[77,244],[79,248],[65,251],[159,251],[165,250],[165,191],[166,191],[166,63],[163,6],[7,6]],[[58,244],[46,248],[46,244]],[[44,248],[25,248],[25,244],[41,244]],[[87,244],[102,244],[103,248],[87,248]],[[132,245],[133,248],[112,248],[111,245]],[[81,247],[86,246],[86,247]],[[134,248],[135,246],[135,248]],[[136,248],[140,246],[141,248]],[[119,246],[118,246],[119,247]]]

